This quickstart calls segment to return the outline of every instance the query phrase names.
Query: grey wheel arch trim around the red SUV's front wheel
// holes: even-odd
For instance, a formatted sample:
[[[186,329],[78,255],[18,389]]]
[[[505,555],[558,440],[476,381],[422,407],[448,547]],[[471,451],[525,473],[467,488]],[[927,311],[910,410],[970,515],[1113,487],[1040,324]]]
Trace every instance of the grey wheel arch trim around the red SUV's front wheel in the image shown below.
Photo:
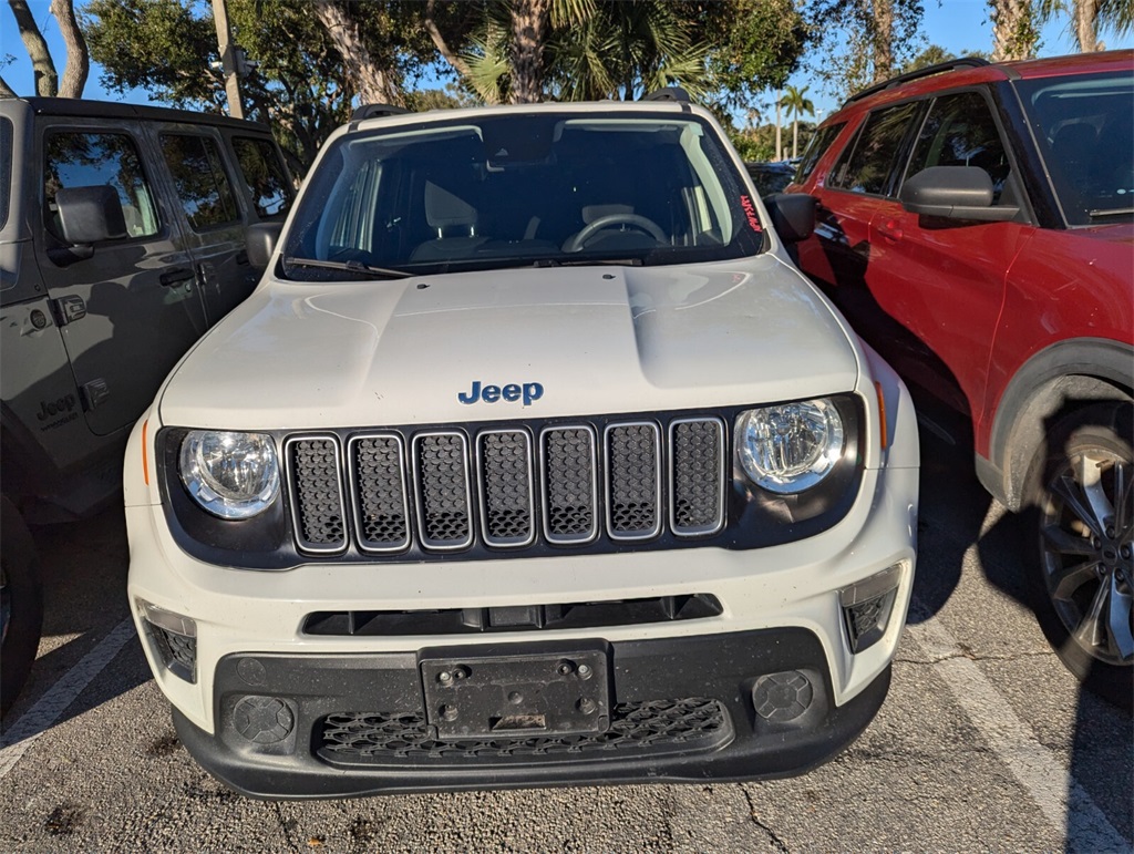
[[[1099,400],[1134,399],[1134,347],[1107,338],[1059,341],[1029,360],[997,406],[989,457],[976,457],[984,488],[1010,510],[1022,509],[1029,470],[1046,425]]]

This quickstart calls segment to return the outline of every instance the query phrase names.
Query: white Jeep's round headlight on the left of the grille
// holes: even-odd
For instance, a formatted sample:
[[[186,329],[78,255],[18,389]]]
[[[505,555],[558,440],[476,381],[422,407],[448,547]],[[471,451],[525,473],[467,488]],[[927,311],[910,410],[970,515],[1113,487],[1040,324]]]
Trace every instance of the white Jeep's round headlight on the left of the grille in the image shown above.
[[[246,519],[280,492],[276,445],[263,433],[192,430],[181,442],[181,483],[209,513]]]

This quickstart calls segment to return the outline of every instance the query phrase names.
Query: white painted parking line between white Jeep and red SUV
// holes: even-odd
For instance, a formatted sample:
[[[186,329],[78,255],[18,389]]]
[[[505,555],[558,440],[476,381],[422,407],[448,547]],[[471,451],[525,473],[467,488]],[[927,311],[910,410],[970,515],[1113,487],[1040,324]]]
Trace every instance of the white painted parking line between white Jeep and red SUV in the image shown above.
[[[1012,771],[1057,829],[1066,829],[1067,845],[1083,854],[1129,852],[1131,844],[1115,830],[1078,780],[1039,743],[936,617],[906,626],[922,653],[936,660],[936,671],[965,710],[997,756]]]

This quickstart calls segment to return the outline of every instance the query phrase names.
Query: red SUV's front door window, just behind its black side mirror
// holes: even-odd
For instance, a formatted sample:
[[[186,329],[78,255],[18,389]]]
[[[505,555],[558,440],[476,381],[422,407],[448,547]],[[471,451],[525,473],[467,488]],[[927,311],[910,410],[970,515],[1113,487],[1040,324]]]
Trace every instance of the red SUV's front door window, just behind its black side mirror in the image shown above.
[[[993,203],[1000,201],[1012,167],[988,103],[976,92],[933,101],[914,145],[906,177],[931,166],[979,167],[992,178]]]

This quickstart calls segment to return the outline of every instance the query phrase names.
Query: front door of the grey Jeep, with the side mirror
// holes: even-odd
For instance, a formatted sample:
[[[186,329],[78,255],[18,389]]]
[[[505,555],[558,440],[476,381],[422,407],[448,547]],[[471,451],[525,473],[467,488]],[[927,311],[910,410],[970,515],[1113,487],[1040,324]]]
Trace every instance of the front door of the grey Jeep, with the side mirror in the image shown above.
[[[36,261],[60,325],[85,417],[99,436],[129,426],[177,360],[208,328],[193,261],[155,179],[156,153],[139,122],[44,118],[42,217]],[[126,237],[76,252],[56,194],[107,185],[122,205]]]

